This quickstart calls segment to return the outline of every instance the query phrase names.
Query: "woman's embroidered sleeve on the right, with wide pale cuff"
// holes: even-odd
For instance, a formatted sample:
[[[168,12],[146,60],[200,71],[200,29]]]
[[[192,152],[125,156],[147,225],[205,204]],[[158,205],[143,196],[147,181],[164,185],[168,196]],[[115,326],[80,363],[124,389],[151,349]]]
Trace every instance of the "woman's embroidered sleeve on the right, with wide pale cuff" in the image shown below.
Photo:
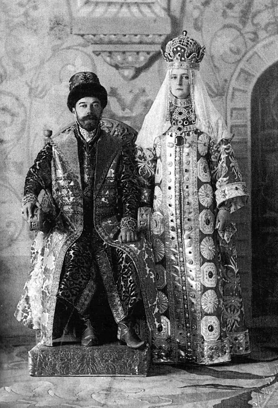
[[[230,140],[222,139],[219,143],[210,141],[209,164],[217,207],[229,202],[232,213],[245,206],[249,194]]]

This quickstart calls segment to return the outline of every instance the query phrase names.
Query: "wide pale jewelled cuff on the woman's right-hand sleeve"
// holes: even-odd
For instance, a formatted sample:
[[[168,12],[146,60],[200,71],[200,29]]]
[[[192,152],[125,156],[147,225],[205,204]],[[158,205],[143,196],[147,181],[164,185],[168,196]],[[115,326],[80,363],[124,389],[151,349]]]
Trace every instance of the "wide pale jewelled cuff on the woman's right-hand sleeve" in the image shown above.
[[[215,196],[218,208],[226,200],[231,199],[231,213],[233,213],[246,205],[249,194],[246,184],[244,182],[237,182],[221,186],[216,190]]]

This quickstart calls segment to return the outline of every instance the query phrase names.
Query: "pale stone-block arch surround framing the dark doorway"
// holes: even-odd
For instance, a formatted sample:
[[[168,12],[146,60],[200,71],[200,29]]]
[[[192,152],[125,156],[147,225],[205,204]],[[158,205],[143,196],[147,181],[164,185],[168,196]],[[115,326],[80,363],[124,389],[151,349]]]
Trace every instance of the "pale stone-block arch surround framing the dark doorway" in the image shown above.
[[[251,95],[262,73],[278,61],[278,35],[265,38],[245,55],[238,64],[229,83],[227,93],[227,126],[234,134],[233,147],[243,177],[251,191]],[[251,197],[250,197],[251,198]],[[262,326],[265,318],[252,318],[252,251],[251,251],[251,200],[237,216],[239,230],[238,257],[245,293],[245,313],[249,326]],[[269,324],[277,324],[269,317]],[[275,320],[275,322],[274,322]],[[272,322],[272,323],[271,323]]]

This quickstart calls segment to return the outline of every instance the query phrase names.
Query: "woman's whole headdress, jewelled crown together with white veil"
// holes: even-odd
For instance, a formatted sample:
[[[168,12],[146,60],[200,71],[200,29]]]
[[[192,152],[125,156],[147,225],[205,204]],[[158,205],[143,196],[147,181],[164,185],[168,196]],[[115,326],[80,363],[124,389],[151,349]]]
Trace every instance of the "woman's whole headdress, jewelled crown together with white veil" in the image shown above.
[[[187,37],[187,31],[183,31],[183,35],[173,38],[167,43],[165,51],[162,51],[168,68],[166,77],[156,99],[145,116],[136,144],[143,148],[152,148],[156,137],[167,132],[171,126],[169,121],[169,100],[170,73],[172,69],[189,70],[190,94],[196,115],[196,129],[207,133],[211,140],[216,143],[220,139],[230,138],[225,121],[212,104],[205,84],[198,72],[204,54],[205,47],[201,47],[196,40]]]

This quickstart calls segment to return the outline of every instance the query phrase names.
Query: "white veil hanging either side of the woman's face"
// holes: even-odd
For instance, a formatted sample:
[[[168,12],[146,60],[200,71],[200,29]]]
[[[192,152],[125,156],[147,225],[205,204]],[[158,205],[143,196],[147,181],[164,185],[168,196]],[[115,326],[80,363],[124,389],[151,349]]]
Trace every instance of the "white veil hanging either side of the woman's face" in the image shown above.
[[[225,120],[212,104],[200,73],[196,70],[188,71],[190,74],[191,99],[196,114],[196,128],[203,133],[207,133],[216,143],[221,139],[229,139],[231,136],[228,133]],[[145,116],[142,128],[138,133],[136,144],[144,149],[153,148],[156,137],[167,132],[171,126],[170,121],[166,120],[170,73],[171,71],[168,70],[156,99]]]

